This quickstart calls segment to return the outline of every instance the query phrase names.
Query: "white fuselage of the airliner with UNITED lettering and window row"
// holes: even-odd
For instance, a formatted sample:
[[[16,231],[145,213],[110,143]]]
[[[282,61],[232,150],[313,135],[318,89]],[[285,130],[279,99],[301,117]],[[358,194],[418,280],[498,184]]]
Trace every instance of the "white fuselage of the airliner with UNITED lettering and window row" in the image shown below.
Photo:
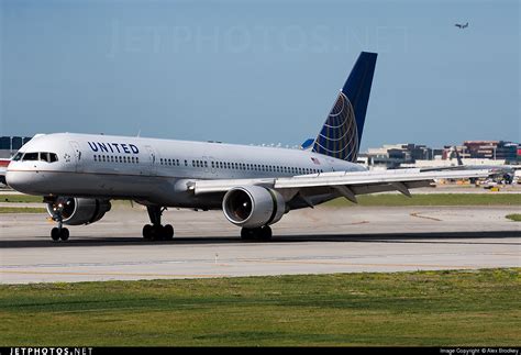
[[[56,133],[37,135],[24,145],[8,167],[7,181],[29,195],[220,208],[221,197],[195,197],[188,192],[187,184],[197,179],[291,177],[335,170],[365,168],[301,149]]]

